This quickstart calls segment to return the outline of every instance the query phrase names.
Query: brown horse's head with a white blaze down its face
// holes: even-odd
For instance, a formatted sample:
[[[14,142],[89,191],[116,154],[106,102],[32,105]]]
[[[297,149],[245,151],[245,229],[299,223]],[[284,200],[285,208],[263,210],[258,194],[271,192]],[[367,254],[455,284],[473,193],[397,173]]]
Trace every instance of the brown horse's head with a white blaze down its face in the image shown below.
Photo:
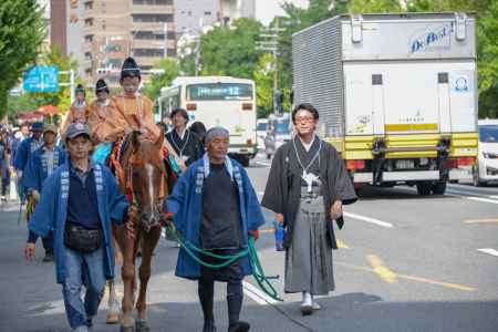
[[[128,174],[134,203],[141,211],[141,222],[146,231],[158,226],[163,200],[167,194],[166,168],[163,162],[164,129],[157,142],[142,139],[135,132],[131,137]]]

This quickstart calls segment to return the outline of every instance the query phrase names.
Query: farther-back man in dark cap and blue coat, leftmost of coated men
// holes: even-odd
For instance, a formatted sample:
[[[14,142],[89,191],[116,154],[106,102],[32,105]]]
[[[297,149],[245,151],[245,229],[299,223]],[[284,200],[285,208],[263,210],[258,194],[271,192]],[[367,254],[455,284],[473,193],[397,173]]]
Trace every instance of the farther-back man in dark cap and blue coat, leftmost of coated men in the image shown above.
[[[25,189],[22,186],[22,174],[28,166],[31,155],[43,145],[43,124],[41,122],[33,123],[31,125],[31,137],[25,138],[19,145],[14,160],[14,168],[17,172],[18,186],[20,190],[19,195],[22,200],[25,197]]]

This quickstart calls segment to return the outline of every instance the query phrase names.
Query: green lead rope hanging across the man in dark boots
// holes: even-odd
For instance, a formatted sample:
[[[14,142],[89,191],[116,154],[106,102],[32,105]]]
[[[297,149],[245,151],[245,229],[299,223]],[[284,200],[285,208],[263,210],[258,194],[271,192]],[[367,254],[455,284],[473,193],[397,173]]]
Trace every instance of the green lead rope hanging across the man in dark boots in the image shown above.
[[[179,236],[179,234],[177,232],[177,230],[175,228],[170,228],[168,226],[166,226],[168,228],[168,231],[173,235],[174,239],[185,249],[185,251],[199,264],[207,267],[209,269],[221,269],[225,267],[228,267],[229,264],[231,264],[232,262],[237,261],[238,259],[249,255],[249,261],[251,262],[252,266],[252,277],[255,278],[256,282],[258,283],[259,288],[261,288],[261,290],[267,293],[270,298],[272,298],[273,300],[277,301],[283,301],[278,292],[277,289],[273,287],[273,284],[270,282],[270,280],[276,280],[279,279],[279,276],[267,276],[264,274],[264,270],[261,266],[261,262],[259,260],[258,257],[258,252],[256,251],[256,240],[255,237],[249,237],[249,246],[246,250],[240,251],[237,255],[217,255],[214,253],[209,250],[204,250],[200,248],[197,248],[194,243],[191,243],[190,241],[181,238]],[[208,263],[205,262],[204,260],[201,260],[199,257],[197,257],[196,252],[211,257],[211,258],[216,258],[219,260],[222,260],[224,262],[218,263],[218,264],[214,264],[214,263]]]

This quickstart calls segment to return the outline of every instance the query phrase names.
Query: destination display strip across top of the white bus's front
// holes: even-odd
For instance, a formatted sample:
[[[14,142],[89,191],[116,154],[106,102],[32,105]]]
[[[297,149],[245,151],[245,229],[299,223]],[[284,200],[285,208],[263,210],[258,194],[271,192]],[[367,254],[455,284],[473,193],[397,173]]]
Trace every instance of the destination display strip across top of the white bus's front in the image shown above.
[[[241,83],[205,83],[187,86],[189,101],[250,101],[251,84]]]

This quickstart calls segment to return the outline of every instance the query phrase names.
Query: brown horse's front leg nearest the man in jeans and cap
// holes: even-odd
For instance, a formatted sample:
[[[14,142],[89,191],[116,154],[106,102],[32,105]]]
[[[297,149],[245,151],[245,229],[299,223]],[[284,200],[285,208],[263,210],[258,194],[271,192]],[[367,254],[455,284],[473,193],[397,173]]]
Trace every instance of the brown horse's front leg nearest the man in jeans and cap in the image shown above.
[[[123,315],[121,319],[121,331],[133,332],[135,330],[135,321],[132,317],[133,310],[133,284],[135,280],[135,252],[136,245],[138,242],[139,231],[135,228],[135,239],[131,239],[126,236],[126,231],[122,229],[120,231],[118,241],[123,248],[123,267],[121,269],[121,277],[124,284],[122,310]]]

